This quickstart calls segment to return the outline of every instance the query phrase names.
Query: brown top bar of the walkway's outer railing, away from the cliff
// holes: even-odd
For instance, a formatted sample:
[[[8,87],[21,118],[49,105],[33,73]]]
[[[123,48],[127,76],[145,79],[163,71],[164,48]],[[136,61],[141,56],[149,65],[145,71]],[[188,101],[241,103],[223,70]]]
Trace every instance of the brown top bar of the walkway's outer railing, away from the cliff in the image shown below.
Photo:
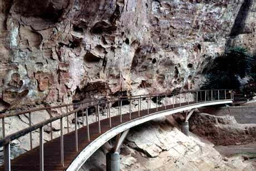
[[[172,92],[172,93],[170,93],[170,94],[164,94],[164,95],[176,95],[176,94],[184,94],[184,93],[191,93],[191,92],[192,92],[192,93],[198,93],[198,92],[208,92],[208,91],[209,91],[209,90],[198,90],[198,91],[193,90],[193,91],[185,91],[185,92],[180,92],[180,93],[178,93],[178,92],[173,93],[173,92]],[[210,91],[211,91],[211,90],[210,90]],[[214,91],[214,90],[212,90],[212,91]],[[223,90],[215,90],[215,91],[220,92],[220,91],[223,91]],[[225,93],[228,93],[229,91],[230,91],[230,93],[232,93],[232,92],[231,92],[232,90],[225,90]],[[139,97],[136,96],[137,98],[130,98],[130,99],[128,99],[128,100],[136,100],[136,99],[150,98],[150,97],[159,97],[160,95],[163,95],[163,94],[147,95],[147,96],[145,96],[145,97],[142,97],[142,95],[139,95]],[[226,96],[225,96],[225,99],[227,99]],[[225,99],[222,99],[222,100],[225,100]],[[232,98],[232,95],[230,95],[230,98],[229,98],[229,99],[233,99],[233,98]],[[100,105],[100,104],[119,102],[119,100],[125,100],[125,99],[120,99],[120,98],[118,98],[117,100],[111,100],[111,101],[105,101],[105,102],[96,102],[96,103],[90,104],[90,106],[96,106],[96,105]],[[219,99],[219,100],[220,100],[220,99]],[[92,102],[93,102],[93,101],[92,101]],[[206,101],[205,101],[205,102],[206,102]],[[66,105],[61,105],[61,106],[64,106],[64,107],[65,107]],[[89,106],[89,107],[90,107],[90,106]],[[52,118],[50,118],[50,119],[44,120],[43,122],[37,123],[37,124],[35,124],[35,125],[31,125],[31,126],[28,127],[28,128],[19,130],[19,131],[16,132],[16,133],[10,134],[10,135],[4,137],[3,139],[0,139],[0,147],[3,147],[4,145],[10,143],[10,142],[11,142],[12,140],[14,140],[14,139],[17,139],[17,138],[19,138],[19,137],[22,137],[23,135],[26,135],[26,134],[28,134],[28,133],[31,133],[32,131],[34,131],[34,130],[36,130],[36,129],[38,129],[38,128],[41,128],[41,127],[43,127],[44,125],[50,124],[50,123],[52,123],[52,122],[54,122],[54,121],[56,121],[56,120],[58,120],[58,119],[67,117],[68,115],[71,115],[71,114],[73,114],[73,113],[79,112],[79,111],[81,111],[81,110],[86,110],[87,108],[88,108],[88,106],[86,106],[86,107],[80,107],[80,108],[74,109],[74,110],[72,110],[72,111],[70,111],[70,112],[67,112],[67,113],[65,113],[65,114],[57,115],[56,117],[52,117]],[[26,113],[28,113],[28,112],[26,111],[25,113],[23,112],[22,114],[26,114]],[[16,115],[17,115],[17,114],[16,114]]]

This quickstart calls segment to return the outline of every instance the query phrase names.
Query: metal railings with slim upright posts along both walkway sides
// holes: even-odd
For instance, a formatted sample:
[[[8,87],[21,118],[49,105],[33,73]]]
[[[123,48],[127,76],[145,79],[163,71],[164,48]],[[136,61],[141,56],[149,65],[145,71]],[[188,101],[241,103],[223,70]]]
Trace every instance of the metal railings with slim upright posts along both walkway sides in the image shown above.
[[[216,91],[216,92],[215,92]],[[204,92],[204,93],[201,93]],[[223,94],[224,92],[224,94]],[[62,123],[62,119],[67,117],[67,132],[68,132],[68,116],[71,114],[75,114],[75,140],[76,140],[76,150],[78,150],[78,144],[77,144],[77,113],[82,111],[82,114],[84,114],[84,112],[86,111],[86,127],[87,127],[87,138],[90,141],[90,133],[89,133],[89,127],[88,127],[88,108],[89,107],[96,107],[96,122],[98,122],[98,127],[99,127],[99,133],[101,133],[101,127],[100,127],[100,105],[101,104],[108,104],[106,105],[107,107],[107,118],[110,119],[110,127],[111,127],[111,115],[110,115],[110,103],[114,103],[114,102],[121,102],[121,105],[119,103],[119,115],[120,115],[120,121],[122,123],[122,113],[121,113],[121,109],[122,109],[122,102],[125,100],[130,100],[130,120],[131,120],[131,102],[132,100],[135,100],[135,102],[138,102],[138,109],[136,109],[137,113],[139,114],[140,117],[140,111],[141,111],[141,100],[142,99],[146,99],[147,100],[147,113],[149,114],[149,109],[150,107],[150,98],[152,97],[156,97],[156,111],[157,108],[159,108],[159,102],[161,101],[161,98],[164,98],[164,105],[165,105],[165,109],[166,109],[166,105],[168,105],[168,100],[167,97],[169,97],[169,95],[173,95],[173,102],[171,103],[173,105],[173,108],[175,107],[175,104],[177,104],[177,96],[178,94],[180,94],[180,100],[179,100],[179,104],[181,106],[181,94],[185,94],[184,95],[184,103],[188,103],[188,105],[190,104],[190,98],[191,96],[189,95],[189,93],[196,93],[196,103],[198,102],[212,102],[215,100],[233,100],[234,98],[234,94],[233,94],[233,90],[229,90],[229,89],[213,89],[213,90],[186,90],[183,92],[180,91],[173,91],[171,93],[156,93],[156,94],[146,94],[146,95],[131,95],[131,96],[119,96],[119,97],[113,97],[113,98],[105,98],[102,100],[99,99],[93,99],[93,100],[88,100],[88,101],[83,101],[83,102],[79,102],[79,103],[73,103],[73,104],[62,104],[62,105],[57,105],[54,107],[42,107],[42,108],[35,108],[35,109],[31,109],[31,110],[26,110],[23,112],[18,112],[18,113],[14,113],[14,114],[5,114],[5,115],[1,115],[0,119],[2,119],[2,124],[3,124],[3,138],[0,139],[0,147],[4,147],[4,165],[7,168],[6,170],[11,170],[10,169],[10,154],[9,154],[9,145],[11,143],[12,140],[17,139],[19,137],[22,137],[23,135],[26,134],[30,134],[30,138],[31,138],[31,149],[32,149],[32,135],[31,133],[33,131],[35,131],[36,129],[40,129],[40,169],[43,170],[43,126],[47,125],[47,124],[51,124],[51,139],[52,139],[52,122],[55,122],[56,120],[60,119],[61,120],[61,164],[63,165],[63,123]],[[200,101],[199,101],[199,94],[200,94]],[[202,98],[202,94],[203,94],[203,98]],[[228,95],[228,97],[227,97]],[[162,97],[161,97],[162,96]],[[165,97],[163,97],[165,96]],[[175,98],[174,98],[175,97]],[[195,99],[195,96],[193,95],[193,100]],[[175,103],[174,103],[175,101]],[[193,101],[195,102],[195,101]],[[87,104],[84,105],[86,103],[91,103],[91,104]],[[77,104],[83,104],[82,106],[78,107],[77,109],[73,109],[70,112],[61,114],[61,115],[57,115],[55,117],[50,117],[50,119],[47,120],[43,120],[40,123],[37,123],[35,125],[31,125],[31,112],[35,112],[38,110],[45,110],[45,109],[52,109],[52,108],[61,108],[61,107],[68,107],[69,105],[77,105]],[[163,104],[162,104],[163,105]],[[21,114],[27,114],[29,113],[29,127],[28,128],[24,128],[22,130],[19,130],[15,133],[12,133],[10,135],[5,136],[4,135],[4,118],[6,117],[12,117],[15,115],[21,115]]]

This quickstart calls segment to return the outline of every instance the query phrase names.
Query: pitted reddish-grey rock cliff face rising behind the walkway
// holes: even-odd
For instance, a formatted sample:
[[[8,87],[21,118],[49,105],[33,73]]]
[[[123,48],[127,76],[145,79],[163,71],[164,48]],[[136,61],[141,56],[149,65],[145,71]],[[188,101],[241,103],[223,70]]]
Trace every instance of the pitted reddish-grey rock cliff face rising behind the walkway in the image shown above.
[[[227,46],[256,48],[253,0],[0,4],[0,110],[194,88]]]

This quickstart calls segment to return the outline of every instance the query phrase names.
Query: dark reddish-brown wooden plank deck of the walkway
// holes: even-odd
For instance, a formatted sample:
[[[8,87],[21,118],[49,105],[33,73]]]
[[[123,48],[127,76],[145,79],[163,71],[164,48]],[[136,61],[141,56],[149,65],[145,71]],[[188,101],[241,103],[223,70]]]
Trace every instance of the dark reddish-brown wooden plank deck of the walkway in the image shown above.
[[[190,104],[195,104],[195,102],[190,102]],[[181,106],[186,106],[188,103],[181,103]],[[174,108],[180,107],[180,104],[175,104]],[[167,105],[166,109],[172,109],[173,104]],[[165,110],[165,107],[159,107],[159,111]],[[149,110],[149,114],[155,113],[156,108]],[[147,109],[140,111],[140,117],[148,115]],[[131,119],[139,118],[138,112],[131,113]],[[122,123],[130,121],[130,114],[122,115]],[[120,115],[111,117],[112,129],[117,125],[120,125]],[[99,137],[101,134],[110,130],[109,119],[101,120],[101,134],[98,132],[98,124],[92,123],[89,125],[90,128],[90,142],[86,138],[86,127],[78,129],[78,152],[75,150],[75,131],[67,133],[63,136],[64,142],[64,163],[65,167],[61,165],[61,152],[60,152],[60,137],[46,142],[44,144],[44,169],[45,170],[66,170],[72,161],[77,157],[77,155],[93,140]],[[40,170],[40,150],[36,147],[19,157],[11,160],[11,170]],[[4,170],[2,166],[0,170]]]

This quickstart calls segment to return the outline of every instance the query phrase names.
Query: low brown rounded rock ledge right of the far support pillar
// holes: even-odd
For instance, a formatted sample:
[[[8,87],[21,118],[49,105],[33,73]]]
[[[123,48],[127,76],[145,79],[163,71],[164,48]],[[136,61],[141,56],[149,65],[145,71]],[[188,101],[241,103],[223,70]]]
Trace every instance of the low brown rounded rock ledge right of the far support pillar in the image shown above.
[[[239,124],[234,116],[195,113],[190,118],[191,132],[215,145],[237,145],[256,142],[256,124]]]

